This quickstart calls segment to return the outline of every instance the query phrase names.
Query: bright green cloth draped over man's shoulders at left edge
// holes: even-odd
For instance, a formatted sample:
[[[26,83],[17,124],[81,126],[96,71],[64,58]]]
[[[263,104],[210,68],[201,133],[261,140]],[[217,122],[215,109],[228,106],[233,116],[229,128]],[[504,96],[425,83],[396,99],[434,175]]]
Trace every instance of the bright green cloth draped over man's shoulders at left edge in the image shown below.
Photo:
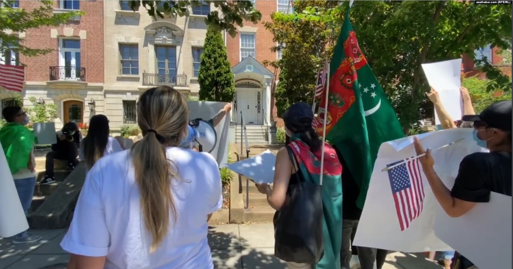
[[[12,174],[27,168],[34,141],[34,132],[21,124],[10,122],[0,129],[0,143]]]

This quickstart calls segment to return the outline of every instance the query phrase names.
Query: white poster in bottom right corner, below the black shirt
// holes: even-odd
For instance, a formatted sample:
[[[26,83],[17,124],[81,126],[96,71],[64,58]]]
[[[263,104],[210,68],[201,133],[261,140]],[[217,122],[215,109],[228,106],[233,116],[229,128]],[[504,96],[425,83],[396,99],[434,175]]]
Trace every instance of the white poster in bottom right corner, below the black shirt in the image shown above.
[[[492,192],[488,203],[457,218],[440,210],[435,235],[479,269],[511,268],[511,197]]]

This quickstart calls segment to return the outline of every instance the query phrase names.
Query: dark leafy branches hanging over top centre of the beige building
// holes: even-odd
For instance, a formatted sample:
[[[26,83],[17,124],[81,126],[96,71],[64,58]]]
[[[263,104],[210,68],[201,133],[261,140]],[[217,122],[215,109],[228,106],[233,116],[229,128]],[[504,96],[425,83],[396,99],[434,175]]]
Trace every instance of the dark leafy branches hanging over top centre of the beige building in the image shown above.
[[[154,18],[165,16],[188,16],[189,7],[200,6],[202,3],[213,3],[217,10],[212,10],[205,18],[207,25],[216,30],[227,30],[231,37],[235,37],[236,26],[243,26],[243,21],[257,23],[262,14],[254,9],[251,1],[146,1],[132,0],[132,10],[139,10],[143,6],[148,14]]]

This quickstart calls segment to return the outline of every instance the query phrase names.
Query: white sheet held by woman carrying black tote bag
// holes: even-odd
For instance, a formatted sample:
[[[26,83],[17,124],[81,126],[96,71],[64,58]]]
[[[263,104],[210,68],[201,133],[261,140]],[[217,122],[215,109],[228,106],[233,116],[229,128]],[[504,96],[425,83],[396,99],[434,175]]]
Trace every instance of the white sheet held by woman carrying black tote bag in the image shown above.
[[[227,164],[226,167],[235,173],[246,176],[254,183],[272,184],[275,163],[276,156],[270,150],[266,150],[251,158]]]

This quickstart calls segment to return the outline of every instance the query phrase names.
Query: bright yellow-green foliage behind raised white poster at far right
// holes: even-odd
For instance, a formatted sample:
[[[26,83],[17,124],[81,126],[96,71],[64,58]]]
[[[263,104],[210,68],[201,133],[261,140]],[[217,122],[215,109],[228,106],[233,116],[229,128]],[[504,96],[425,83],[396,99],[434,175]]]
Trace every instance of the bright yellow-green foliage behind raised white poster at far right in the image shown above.
[[[463,79],[461,85],[468,89],[472,106],[476,113],[481,113],[488,105],[502,100],[511,100],[511,91],[503,93],[501,96],[494,96],[496,92],[487,92],[486,86],[489,81],[487,79],[479,79],[477,77],[470,77]]]

